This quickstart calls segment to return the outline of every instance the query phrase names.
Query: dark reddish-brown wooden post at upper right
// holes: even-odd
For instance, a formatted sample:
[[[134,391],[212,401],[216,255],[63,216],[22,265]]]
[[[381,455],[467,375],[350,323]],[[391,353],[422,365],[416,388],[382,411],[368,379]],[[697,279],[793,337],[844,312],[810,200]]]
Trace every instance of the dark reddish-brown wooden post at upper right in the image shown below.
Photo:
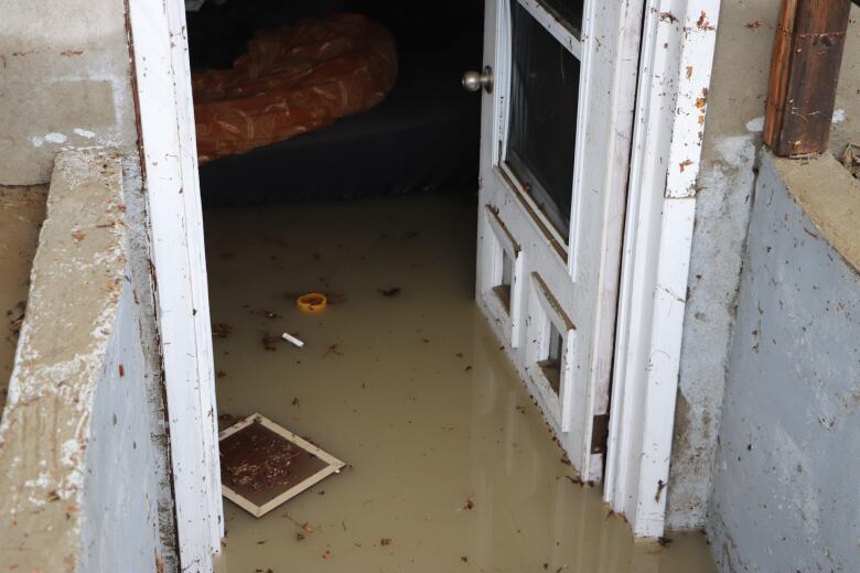
[[[777,155],[827,149],[850,9],[851,0],[783,0],[764,121]]]

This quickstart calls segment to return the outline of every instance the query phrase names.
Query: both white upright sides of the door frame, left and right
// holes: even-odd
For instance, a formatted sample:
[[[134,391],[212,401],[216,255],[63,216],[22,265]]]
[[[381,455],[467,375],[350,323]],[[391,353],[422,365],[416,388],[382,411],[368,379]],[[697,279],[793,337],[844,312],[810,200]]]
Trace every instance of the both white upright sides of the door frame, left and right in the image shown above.
[[[604,498],[634,534],[659,537],[720,0],[642,1]],[[180,559],[183,571],[209,571],[224,520],[184,2],[127,0],[127,12]]]

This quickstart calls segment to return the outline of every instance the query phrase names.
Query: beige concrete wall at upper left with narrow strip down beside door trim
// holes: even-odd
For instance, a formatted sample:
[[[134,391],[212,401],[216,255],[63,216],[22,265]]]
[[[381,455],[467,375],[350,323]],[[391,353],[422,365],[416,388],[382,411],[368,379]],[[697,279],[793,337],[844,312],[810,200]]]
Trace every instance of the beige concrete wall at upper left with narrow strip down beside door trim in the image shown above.
[[[138,152],[126,2],[0,0],[0,185],[51,180],[63,150],[114,149],[126,190],[129,278],[139,305],[150,435],[160,455],[150,473],[168,570],[175,567],[175,516],[150,274],[148,202]]]

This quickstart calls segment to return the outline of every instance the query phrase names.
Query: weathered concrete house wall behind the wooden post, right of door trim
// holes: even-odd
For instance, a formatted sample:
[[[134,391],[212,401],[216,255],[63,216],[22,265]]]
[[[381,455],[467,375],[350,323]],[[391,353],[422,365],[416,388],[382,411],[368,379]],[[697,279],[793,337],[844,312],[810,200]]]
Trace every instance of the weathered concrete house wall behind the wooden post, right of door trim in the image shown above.
[[[781,2],[722,0],[696,204],[667,498],[671,528],[705,523],[741,260]],[[835,140],[860,127],[860,8],[849,25]]]

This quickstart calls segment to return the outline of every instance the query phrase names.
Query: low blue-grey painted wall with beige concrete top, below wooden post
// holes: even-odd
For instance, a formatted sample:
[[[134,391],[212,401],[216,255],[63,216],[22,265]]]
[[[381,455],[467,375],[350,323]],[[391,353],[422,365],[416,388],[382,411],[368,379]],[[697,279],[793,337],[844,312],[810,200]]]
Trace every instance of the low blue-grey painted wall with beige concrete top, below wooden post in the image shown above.
[[[860,571],[860,182],[763,153],[708,534],[722,571]]]

